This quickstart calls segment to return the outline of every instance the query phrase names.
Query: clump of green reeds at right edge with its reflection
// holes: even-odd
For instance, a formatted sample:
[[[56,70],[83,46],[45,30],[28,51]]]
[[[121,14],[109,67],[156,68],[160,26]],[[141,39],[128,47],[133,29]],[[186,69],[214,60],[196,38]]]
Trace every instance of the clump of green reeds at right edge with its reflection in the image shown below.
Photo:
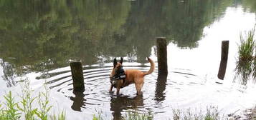
[[[240,34],[240,42],[234,78],[240,79],[241,84],[246,85],[251,76],[256,79],[255,27],[248,31],[246,36]]]

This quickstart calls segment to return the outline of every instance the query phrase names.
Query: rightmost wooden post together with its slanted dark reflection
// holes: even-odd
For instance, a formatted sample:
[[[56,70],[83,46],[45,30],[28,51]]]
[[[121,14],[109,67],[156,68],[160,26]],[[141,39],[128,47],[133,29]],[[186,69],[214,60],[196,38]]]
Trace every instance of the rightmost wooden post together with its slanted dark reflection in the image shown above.
[[[224,79],[227,69],[227,58],[229,55],[229,41],[222,41],[222,59],[219,64],[219,79]]]

